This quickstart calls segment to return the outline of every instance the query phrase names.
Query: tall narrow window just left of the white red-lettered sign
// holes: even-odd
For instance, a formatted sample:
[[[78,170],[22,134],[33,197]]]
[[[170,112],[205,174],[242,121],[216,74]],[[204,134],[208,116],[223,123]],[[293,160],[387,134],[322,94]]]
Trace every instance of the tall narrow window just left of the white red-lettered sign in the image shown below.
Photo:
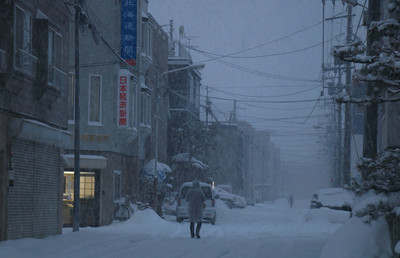
[[[89,77],[89,123],[101,123],[101,77]]]

